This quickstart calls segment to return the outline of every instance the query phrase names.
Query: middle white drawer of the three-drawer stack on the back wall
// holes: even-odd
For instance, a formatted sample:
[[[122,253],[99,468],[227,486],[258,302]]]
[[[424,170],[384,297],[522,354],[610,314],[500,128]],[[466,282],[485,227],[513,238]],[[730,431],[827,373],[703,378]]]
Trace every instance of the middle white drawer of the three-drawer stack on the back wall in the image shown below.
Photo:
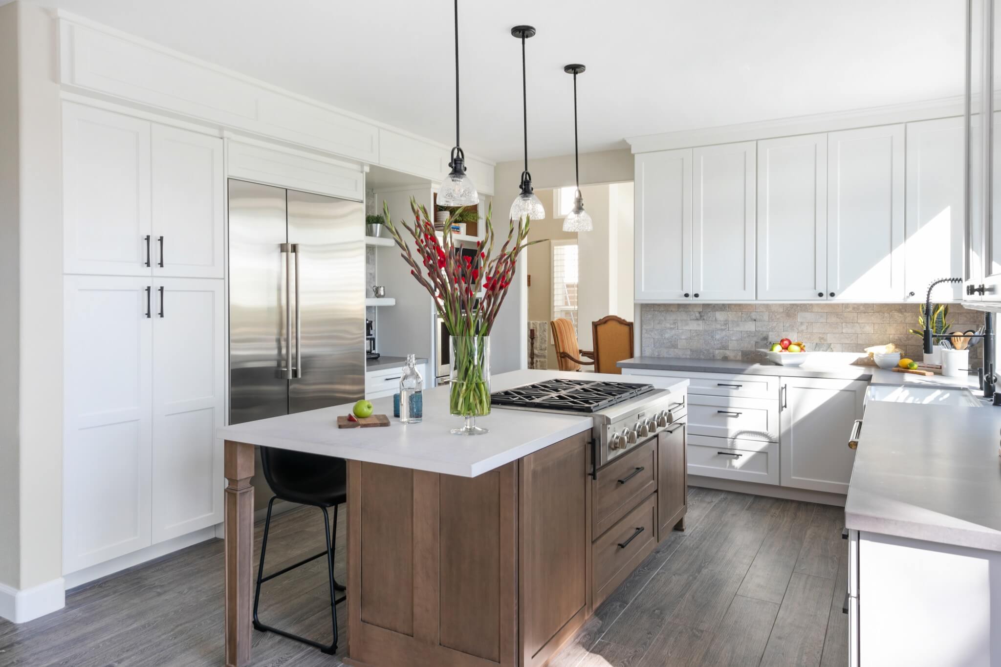
[[[779,441],[779,401],[689,395],[689,435]]]

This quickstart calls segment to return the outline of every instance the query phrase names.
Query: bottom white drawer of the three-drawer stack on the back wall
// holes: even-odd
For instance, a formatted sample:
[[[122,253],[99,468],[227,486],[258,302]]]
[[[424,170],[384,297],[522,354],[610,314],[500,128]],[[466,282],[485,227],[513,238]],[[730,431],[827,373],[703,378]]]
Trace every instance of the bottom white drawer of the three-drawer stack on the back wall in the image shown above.
[[[688,472],[721,479],[779,484],[779,445],[775,442],[688,436]]]

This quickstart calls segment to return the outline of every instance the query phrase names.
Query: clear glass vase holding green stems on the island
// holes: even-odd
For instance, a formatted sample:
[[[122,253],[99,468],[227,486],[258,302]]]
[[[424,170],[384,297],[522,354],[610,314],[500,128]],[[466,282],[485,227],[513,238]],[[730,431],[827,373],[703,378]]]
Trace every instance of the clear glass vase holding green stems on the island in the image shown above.
[[[451,337],[451,384],[448,409],[462,417],[456,435],[479,435],[485,428],[476,426],[476,417],[490,413],[490,338],[489,336]]]

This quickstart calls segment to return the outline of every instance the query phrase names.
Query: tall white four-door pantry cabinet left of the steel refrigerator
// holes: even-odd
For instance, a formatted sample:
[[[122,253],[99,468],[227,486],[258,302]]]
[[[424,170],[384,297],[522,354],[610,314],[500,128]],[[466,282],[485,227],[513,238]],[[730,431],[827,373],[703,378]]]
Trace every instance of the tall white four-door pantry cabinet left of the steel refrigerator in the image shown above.
[[[63,104],[63,572],[222,521],[222,139]]]

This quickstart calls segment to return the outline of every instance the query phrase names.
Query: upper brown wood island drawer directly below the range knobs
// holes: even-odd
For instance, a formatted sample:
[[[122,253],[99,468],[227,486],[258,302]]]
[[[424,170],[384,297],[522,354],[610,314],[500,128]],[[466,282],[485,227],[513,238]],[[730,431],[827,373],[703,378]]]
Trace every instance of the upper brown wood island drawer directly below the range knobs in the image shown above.
[[[594,534],[601,535],[657,490],[657,438],[598,471],[592,497]]]

